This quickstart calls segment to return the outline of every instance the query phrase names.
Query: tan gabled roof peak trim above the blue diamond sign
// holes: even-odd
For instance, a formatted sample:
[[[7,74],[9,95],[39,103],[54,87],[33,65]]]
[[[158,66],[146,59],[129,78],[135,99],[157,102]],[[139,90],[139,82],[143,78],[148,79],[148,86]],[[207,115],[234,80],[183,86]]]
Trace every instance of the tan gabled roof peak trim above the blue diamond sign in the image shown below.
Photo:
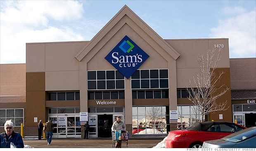
[[[128,18],[123,21],[122,19],[127,16]],[[121,21],[121,25],[119,24],[119,21]],[[135,24],[134,24],[135,23]],[[117,25],[119,24],[119,25]],[[147,37],[150,37],[153,39],[159,46],[162,47],[173,59],[177,59],[180,54],[175,51],[164,39],[162,39],[152,28],[150,28],[147,23],[145,23],[142,19],[140,19],[139,16],[137,16],[127,5],[124,5],[119,12],[116,13],[116,15],[90,40],[88,45],[83,47],[81,51],[75,56],[75,58],[78,61],[81,61],[89,52],[91,49],[93,49],[97,44],[100,44],[100,40],[106,36],[107,34],[108,37],[113,37],[121,28],[124,24],[128,24],[130,28],[133,28],[135,32],[138,32],[138,27],[140,28],[140,33],[141,30],[143,30],[143,33],[147,34]],[[110,33],[111,30],[111,33]],[[127,35],[127,34],[124,34]],[[143,38],[143,37],[142,37]],[[108,41],[108,40],[104,40]],[[100,44],[104,45],[104,44]],[[99,46],[101,48],[102,46]],[[99,51],[98,49],[97,51]],[[93,53],[96,54],[97,51],[94,51]],[[162,55],[164,58],[168,57],[166,55]],[[88,62],[89,60],[86,60]]]

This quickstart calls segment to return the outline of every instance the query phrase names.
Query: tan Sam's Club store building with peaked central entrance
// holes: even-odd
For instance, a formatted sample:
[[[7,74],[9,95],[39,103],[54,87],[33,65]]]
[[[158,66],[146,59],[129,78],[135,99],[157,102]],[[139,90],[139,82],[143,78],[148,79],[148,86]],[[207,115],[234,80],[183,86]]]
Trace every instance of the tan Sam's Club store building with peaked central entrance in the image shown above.
[[[133,137],[167,135],[179,125],[187,127],[201,119],[187,99],[186,88],[199,72],[197,57],[216,46],[223,49],[216,73],[225,72],[220,83],[230,88],[227,38],[162,39],[125,5],[90,41],[27,43],[26,91],[20,90],[26,101],[9,105],[4,97],[13,93],[1,92],[1,121],[12,116],[9,109],[15,118],[16,109],[23,109],[25,136],[37,136],[39,119],[51,118],[55,138],[80,138],[85,123],[81,119],[87,117],[90,137],[110,137],[109,128],[121,116]],[[24,74],[24,68],[18,71]],[[1,91],[11,87],[2,83],[1,77]],[[251,85],[250,89],[255,100],[256,88]],[[230,96],[229,90],[216,100],[227,100],[227,110],[209,114],[205,120],[234,121],[236,103]],[[255,107],[255,102],[251,105]],[[178,114],[177,119],[170,112]]]

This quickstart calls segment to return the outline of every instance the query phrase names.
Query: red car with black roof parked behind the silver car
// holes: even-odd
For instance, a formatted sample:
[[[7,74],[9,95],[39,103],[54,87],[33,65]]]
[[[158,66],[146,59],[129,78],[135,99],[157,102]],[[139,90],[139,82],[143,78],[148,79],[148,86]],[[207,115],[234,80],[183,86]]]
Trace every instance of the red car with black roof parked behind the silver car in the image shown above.
[[[220,139],[246,127],[223,121],[197,122],[185,130],[170,131],[165,148],[201,148],[204,141]]]

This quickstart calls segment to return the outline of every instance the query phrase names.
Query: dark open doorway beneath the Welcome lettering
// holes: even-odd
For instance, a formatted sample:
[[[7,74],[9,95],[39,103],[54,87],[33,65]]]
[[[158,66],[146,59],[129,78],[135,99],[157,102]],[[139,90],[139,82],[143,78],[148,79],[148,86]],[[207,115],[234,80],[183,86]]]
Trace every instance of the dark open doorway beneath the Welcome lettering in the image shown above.
[[[113,125],[113,114],[98,115],[98,118],[97,118],[98,137],[111,137],[112,125]]]

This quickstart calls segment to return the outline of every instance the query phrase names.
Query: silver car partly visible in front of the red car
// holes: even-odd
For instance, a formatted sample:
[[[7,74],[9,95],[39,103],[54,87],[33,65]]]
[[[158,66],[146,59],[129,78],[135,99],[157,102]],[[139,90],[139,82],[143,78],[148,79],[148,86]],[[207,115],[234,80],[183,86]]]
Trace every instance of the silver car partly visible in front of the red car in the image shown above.
[[[240,130],[221,139],[205,141],[202,148],[256,148],[256,126]]]

